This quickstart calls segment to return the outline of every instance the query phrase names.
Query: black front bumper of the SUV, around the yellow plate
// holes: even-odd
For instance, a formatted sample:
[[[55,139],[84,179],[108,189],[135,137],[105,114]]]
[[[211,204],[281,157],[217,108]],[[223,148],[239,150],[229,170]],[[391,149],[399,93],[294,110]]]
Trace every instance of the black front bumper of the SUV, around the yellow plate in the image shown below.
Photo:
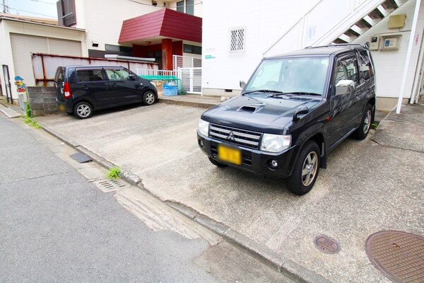
[[[293,163],[296,158],[298,146],[291,146],[282,152],[271,153],[264,152],[259,149],[249,149],[242,146],[235,146],[235,144],[228,144],[218,139],[211,139],[210,137],[204,137],[197,132],[197,142],[199,147],[204,154],[208,157],[224,163],[228,166],[240,168],[245,171],[257,175],[264,175],[273,178],[288,178],[292,173]],[[201,146],[203,144],[203,146]],[[228,144],[231,147],[237,147],[242,151],[242,164],[235,165],[232,163],[226,163],[218,159],[218,144]],[[271,161],[275,160],[278,163],[277,168],[271,167]]]

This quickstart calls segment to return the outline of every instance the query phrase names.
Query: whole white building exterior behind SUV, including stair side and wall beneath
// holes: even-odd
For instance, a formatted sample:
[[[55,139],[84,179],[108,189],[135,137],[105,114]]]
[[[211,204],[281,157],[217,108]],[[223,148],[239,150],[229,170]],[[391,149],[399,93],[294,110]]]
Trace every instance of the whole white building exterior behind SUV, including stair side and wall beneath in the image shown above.
[[[223,0],[204,0],[203,93],[216,96],[240,93],[240,79],[247,81],[263,57],[302,49],[319,40],[322,41],[331,30],[346,19],[351,18],[354,23],[361,18],[361,13],[369,12],[367,8],[382,2],[382,0],[249,0],[244,1],[243,5],[237,5],[237,3],[228,3]],[[370,37],[377,33],[403,35],[399,50],[372,52],[377,69],[377,96],[381,98],[394,99],[399,96],[414,5],[415,1],[410,0],[395,11],[394,14],[407,14],[406,25],[401,30],[389,30],[387,17],[356,40],[356,42],[370,41]],[[411,57],[413,64],[408,70],[405,98],[411,96],[424,27],[423,17],[423,12],[420,12],[417,29],[419,40],[418,44],[413,46]],[[228,30],[237,26],[246,27],[245,52],[230,54]],[[349,27],[350,25],[346,26],[344,30]],[[278,41],[282,35],[284,35],[283,39]],[[325,44],[328,43],[325,42]],[[224,92],[225,89],[233,91],[232,93]],[[390,109],[391,104],[389,104],[383,108]]]

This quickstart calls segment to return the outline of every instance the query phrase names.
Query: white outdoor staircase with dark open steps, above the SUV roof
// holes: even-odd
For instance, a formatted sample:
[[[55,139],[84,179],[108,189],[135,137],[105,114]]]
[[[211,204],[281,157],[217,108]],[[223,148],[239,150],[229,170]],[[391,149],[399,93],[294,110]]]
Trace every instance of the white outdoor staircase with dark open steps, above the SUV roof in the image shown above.
[[[404,5],[407,1],[408,0],[385,0],[382,1],[381,4],[378,4],[378,6],[371,7],[371,9],[370,6],[365,5],[358,11],[359,14],[363,13],[359,15],[359,21],[358,18],[347,17],[344,21],[338,23],[336,27],[319,38],[313,46],[326,45],[331,42],[334,44],[351,43],[374,25],[377,25],[383,18],[390,16],[391,13],[396,11],[397,8]],[[352,20],[354,23],[349,23],[349,21]],[[350,27],[346,29],[346,26]]]

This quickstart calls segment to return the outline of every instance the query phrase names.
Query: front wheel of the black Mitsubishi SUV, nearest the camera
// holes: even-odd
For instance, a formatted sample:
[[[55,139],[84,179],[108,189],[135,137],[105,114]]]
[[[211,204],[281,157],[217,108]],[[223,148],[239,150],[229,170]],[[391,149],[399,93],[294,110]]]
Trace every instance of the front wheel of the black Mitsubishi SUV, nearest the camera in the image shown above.
[[[310,159],[308,159],[308,156],[310,156]],[[310,161],[314,161],[313,165]],[[288,190],[290,190],[290,192],[295,193],[296,195],[305,195],[307,192],[309,192],[318,178],[320,161],[321,158],[319,156],[318,144],[314,141],[307,141],[306,144],[300,150],[298,159],[295,161],[292,175],[290,175],[290,177],[288,178]],[[310,165],[312,165],[312,167],[310,167]],[[302,171],[305,166],[305,170],[307,170],[308,174],[302,175]],[[310,168],[313,168],[314,173],[310,171]],[[308,175],[309,178],[307,177]]]

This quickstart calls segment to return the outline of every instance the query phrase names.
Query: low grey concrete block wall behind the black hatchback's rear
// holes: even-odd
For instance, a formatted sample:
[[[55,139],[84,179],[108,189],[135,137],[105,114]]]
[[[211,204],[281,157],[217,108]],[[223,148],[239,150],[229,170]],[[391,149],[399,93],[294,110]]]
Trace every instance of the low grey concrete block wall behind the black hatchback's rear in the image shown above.
[[[33,116],[57,112],[56,88],[28,86],[28,100]]]

